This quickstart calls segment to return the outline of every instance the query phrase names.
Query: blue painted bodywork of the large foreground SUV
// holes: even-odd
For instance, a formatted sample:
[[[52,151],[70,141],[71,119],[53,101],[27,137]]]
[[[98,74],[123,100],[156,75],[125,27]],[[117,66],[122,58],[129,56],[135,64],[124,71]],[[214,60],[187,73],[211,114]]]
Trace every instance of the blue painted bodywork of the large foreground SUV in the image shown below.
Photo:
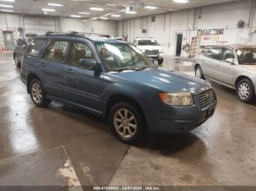
[[[107,72],[94,41],[75,36],[38,36],[35,39],[39,38],[46,38],[48,42],[42,47],[39,58],[24,56],[20,75],[25,83],[29,74],[37,75],[50,99],[64,101],[105,117],[110,97],[124,95],[140,105],[146,117],[148,130],[158,132],[192,130],[208,120],[208,109],[215,109],[217,105],[215,96],[214,101],[206,108],[200,107],[198,95],[212,88],[202,79],[162,69]],[[86,42],[94,53],[99,71],[45,61],[42,54],[50,39]],[[66,72],[69,70],[74,71],[75,75],[69,75]],[[192,93],[192,106],[170,106],[159,98],[159,93],[181,92]]]

